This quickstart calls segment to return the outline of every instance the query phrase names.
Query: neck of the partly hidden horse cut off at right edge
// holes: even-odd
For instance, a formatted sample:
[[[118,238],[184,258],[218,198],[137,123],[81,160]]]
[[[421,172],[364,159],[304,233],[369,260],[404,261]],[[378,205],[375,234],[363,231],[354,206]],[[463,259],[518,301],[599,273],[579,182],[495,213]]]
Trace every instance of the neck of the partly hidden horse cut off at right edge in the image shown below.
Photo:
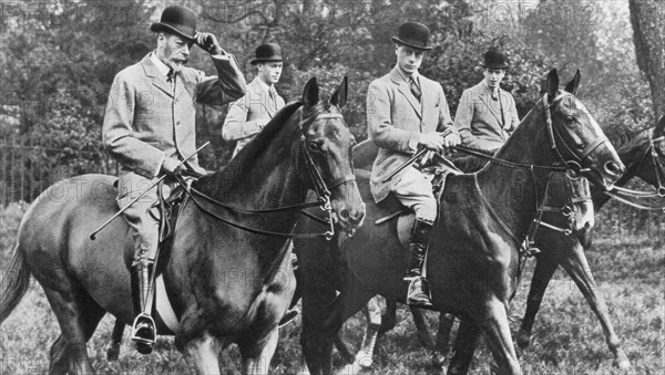
[[[653,170],[652,160],[648,155],[644,154],[647,147],[648,134],[642,132],[627,144],[616,148],[616,154],[618,154],[621,162],[623,162],[627,168],[614,185],[623,187],[634,177],[640,177],[647,184],[656,184],[656,181],[653,180],[653,176],[649,174]],[[595,185],[591,186],[591,196],[596,212],[610,200],[610,196],[603,194],[603,190],[595,187]]]

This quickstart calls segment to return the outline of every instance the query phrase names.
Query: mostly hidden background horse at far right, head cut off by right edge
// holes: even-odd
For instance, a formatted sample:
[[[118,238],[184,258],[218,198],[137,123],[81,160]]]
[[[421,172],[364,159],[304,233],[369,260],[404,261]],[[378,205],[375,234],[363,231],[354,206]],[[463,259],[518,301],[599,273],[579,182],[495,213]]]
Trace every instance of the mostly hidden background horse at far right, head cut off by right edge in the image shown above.
[[[615,186],[622,187],[631,179],[638,177],[658,189],[658,194],[663,194],[663,187],[665,187],[665,168],[663,167],[665,165],[664,136],[665,116],[658,121],[658,124],[654,128],[640,132],[624,131],[615,136],[610,136],[610,142],[616,148],[618,157],[627,166],[626,171]],[[484,163],[482,164],[484,165]],[[610,197],[602,189],[594,186],[592,187],[592,199],[595,215],[607,202]],[[607,346],[614,354],[614,366],[620,369],[628,369],[631,362],[621,347],[621,341],[614,332],[605,300],[602,294],[597,293],[597,287],[584,253],[591,247],[592,235],[593,231],[586,229],[576,229],[572,236],[548,230],[546,228],[538,231],[535,243],[542,252],[536,258],[536,267],[531,279],[531,288],[526,299],[526,312],[518,333],[518,345],[521,348],[529,346],[535,314],[538,313],[548,284],[552,280],[556,268],[562,265],[596,314]],[[382,320],[378,322],[381,324],[379,332],[389,331],[395,326],[396,308],[397,305],[393,301],[387,302],[387,312],[382,316]],[[413,313],[419,337],[422,337],[421,342],[431,347],[432,340],[429,336],[421,312],[417,309],[411,309],[411,312]],[[442,365],[444,355],[449,352],[448,343],[451,329],[452,316],[441,315],[437,344],[433,352],[434,365]],[[368,329],[368,331],[370,330]],[[456,357],[451,360],[453,366],[468,367],[470,365],[472,350],[464,347],[463,343],[456,343],[454,353]]]

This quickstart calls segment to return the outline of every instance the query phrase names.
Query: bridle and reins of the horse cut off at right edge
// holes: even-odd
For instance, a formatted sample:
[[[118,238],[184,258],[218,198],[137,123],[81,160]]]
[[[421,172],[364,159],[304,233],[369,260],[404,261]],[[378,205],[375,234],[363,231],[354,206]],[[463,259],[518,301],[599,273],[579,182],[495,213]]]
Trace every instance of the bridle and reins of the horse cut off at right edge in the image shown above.
[[[648,147],[646,147],[646,149],[644,150],[644,154],[642,154],[642,157],[640,158],[640,163],[637,164],[638,167],[641,167],[644,164],[644,160],[646,159],[647,156],[651,156],[652,159],[652,165],[654,168],[654,176],[656,177],[656,183],[658,184],[658,187],[656,188],[655,191],[641,191],[641,190],[633,190],[633,189],[628,189],[628,188],[624,188],[621,186],[614,186],[614,192],[611,191],[603,191],[606,196],[614,198],[623,204],[626,204],[628,206],[642,209],[642,210],[647,210],[647,211],[662,211],[665,212],[665,207],[656,207],[656,206],[645,206],[645,205],[641,205],[641,204],[636,204],[634,201],[628,200],[627,198],[663,198],[665,197],[665,176],[663,176],[663,164],[661,163],[661,157],[658,155],[658,152],[656,150],[656,144],[662,144],[663,142],[665,142],[665,136],[659,136],[657,138],[653,137],[653,131],[648,132]]]

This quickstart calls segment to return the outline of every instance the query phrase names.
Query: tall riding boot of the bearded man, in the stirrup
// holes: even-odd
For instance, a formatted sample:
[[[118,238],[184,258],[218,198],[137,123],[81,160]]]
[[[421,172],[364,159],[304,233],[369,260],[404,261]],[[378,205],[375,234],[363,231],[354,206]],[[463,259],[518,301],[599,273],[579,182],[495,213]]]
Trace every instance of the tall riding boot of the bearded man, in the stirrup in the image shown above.
[[[155,321],[151,316],[154,301],[154,287],[150,281],[153,273],[154,260],[145,257],[145,250],[140,249],[132,263],[132,300],[134,303],[134,324],[132,325],[132,341],[136,343],[136,351],[141,354],[152,353],[155,343]]]

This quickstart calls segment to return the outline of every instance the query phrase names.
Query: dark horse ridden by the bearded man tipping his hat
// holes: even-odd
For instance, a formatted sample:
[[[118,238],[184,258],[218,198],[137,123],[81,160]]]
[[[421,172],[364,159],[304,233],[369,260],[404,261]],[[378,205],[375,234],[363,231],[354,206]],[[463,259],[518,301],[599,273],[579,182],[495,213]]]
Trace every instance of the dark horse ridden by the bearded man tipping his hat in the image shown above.
[[[268,372],[277,323],[295,289],[288,246],[298,219],[293,207],[305,204],[309,189],[329,188],[341,228],[360,225],[365,206],[352,176],[355,139],[339,110],[346,91],[344,79],[329,102],[319,102],[311,79],[301,102],[283,108],[225,169],[192,185],[200,192],[183,202],[163,280],[177,319],[175,345],[197,373],[219,374],[217,356],[231,343],[239,347],[244,374]],[[114,220],[95,241],[89,238],[117,210],[113,181],[85,175],[57,184],[21,222],[0,322],[34,275],[62,331],[51,347],[49,374],[93,373],[85,343],[102,316],[110,312],[125,324],[134,319],[127,225]],[[69,195],[54,199],[55,189]],[[280,209],[247,212],[273,208]],[[170,333],[160,322],[157,330]]]

